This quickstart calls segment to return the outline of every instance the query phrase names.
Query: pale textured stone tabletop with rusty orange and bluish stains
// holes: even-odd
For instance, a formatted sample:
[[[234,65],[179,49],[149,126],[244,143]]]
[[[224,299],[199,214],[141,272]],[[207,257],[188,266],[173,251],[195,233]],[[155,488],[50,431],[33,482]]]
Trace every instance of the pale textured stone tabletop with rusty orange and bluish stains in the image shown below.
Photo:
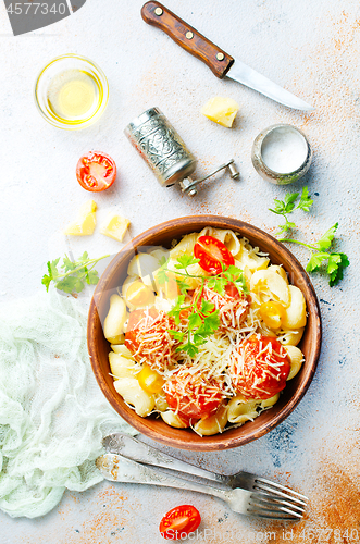
[[[313,103],[316,109],[311,114],[288,110],[235,82],[216,79],[167,36],[144,23],[141,4],[88,0],[71,17],[15,38],[1,2],[0,301],[40,292],[46,261],[66,248],[75,256],[85,249],[94,256],[119,249],[119,244],[98,233],[67,242],[61,235],[88,198],[74,175],[83,152],[99,149],[115,159],[116,184],[95,199],[100,221],[111,207],[131,219],[132,237],[167,219],[194,213],[235,217],[273,234],[278,221],[268,208],[286,189],[257,175],[251,145],[273,123],[302,128],[314,159],[307,180],[291,189],[308,184],[315,202],[309,214],[299,212],[296,222],[305,238],[315,240],[338,221],[337,247],[351,259],[337,287],[313,276],[324,326],[319,370],[303,400],[272,433],[234,450],[178,455],[213,470],[246,469],[288,483],[310,497],[309,510],[302,522],[288,524],[293,532],[285,534],[282,523],[251,521],[222,502],[195,493],[103,483],[84,494],[65,494],[44,519],[0,515],[0,542],[161,543],[162,515],[184,503],[202,514],[199,542],[359,542],[355,532],[360,535],[358,2],[167,1],[172,11],[231,54]],[[82,132],[48,125],[34,106],[37,73],[51,58],[66,52],[96,61],[110,84],[108,110],[98,124]],[[200,114],[201,106],[215,95],[240,104],[232,131]],[[193,200],[157,185],[123,135],[134,116],[153,106],[162,109],[198,157],[199,176],[234,157],[240,181],[221,176]],[[306,264],[307,251],[293,250]],[[274,533],[265,536],[264,531]],[[307,531],[313,531],[313,540]]]

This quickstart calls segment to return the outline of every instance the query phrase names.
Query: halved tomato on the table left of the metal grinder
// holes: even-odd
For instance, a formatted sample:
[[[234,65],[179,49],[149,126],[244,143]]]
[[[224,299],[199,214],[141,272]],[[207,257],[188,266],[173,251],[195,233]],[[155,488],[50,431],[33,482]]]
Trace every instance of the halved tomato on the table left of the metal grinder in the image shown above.
[[[76,165],[76,177],[86,190],[108,189],[116,177],[115,161],[109,154],[90,151],[79,159]]]

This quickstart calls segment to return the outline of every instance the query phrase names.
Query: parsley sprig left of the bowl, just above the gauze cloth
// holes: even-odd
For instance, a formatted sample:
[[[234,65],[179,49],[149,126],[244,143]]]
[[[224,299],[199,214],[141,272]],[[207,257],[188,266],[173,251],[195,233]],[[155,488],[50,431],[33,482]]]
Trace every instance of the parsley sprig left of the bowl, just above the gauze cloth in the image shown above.
[[[67,255],[63,257],[62,264],[59,264],[60,257],[54,261],[48,261],[48,274],[42,276],[41,283],[46,286],[47,290],[49,290],[50,284],[53,282],[59,290],[69,294],[80,293],[86,283],[88,285],[96,285],[98,283],[99,275],[94,268],[105,257],[110,256],[104,255],[98,259],[89,259],[87,251],[84,251],[77,261],[70,260]]]

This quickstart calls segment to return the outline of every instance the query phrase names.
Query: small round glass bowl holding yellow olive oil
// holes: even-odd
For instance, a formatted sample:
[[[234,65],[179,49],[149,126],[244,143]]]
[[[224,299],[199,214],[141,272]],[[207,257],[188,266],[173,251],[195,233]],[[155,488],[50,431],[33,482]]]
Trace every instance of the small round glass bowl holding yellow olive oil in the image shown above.
[[[52,125],[78,131],[95,123],[109,100],[109,84],[102,70],[77,54],[57,57],[40,72],[35,84],[35,103]]]

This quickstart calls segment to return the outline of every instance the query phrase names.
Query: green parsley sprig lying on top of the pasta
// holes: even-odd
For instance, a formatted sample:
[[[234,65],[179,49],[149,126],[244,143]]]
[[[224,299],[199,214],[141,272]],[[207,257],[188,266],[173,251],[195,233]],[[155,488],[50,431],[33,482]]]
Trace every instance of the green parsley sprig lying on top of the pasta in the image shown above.
[[[175,279],[181,295],[176,298],[175,305],[169,312],[169,316],[174,318],[177,325],[181,324],[182,312],[183,316],[186,314],[188,319],[187,331],[170,330],[169,332],[179,342],[176,351],[185,351],[189,357],[195,357],[199,351],[199,346],[204,344],[208,337],[220,326],[219,310],[214,309],[214,304],[206,299],[201,299],[200,302],[204,285],[207,284],[208,287],[219,293],[219,295],[224,295],[226,285],[228,282],[232,282],[237,287],[238,292],[243,294],[247,293],[245,277],[243,270],[234,265],[226,268],[224,264],[222,264],[222,272],[216,275],[206,276],[191,274],[188,271],[188,267],[199,262],[199,259],[190,255],[178,257],[174,265],[176,271],[169,269],[169,261],[170,259],[164,260],[157,273],[157,280],[160,285],[169,282],[173,274],[176,274]],[[190,277],[199,279],[201,281],[201,288],[198,289],[198,294],[191,302],[187,304],[186,294],[189,290],[189,286],[186,279]]]

